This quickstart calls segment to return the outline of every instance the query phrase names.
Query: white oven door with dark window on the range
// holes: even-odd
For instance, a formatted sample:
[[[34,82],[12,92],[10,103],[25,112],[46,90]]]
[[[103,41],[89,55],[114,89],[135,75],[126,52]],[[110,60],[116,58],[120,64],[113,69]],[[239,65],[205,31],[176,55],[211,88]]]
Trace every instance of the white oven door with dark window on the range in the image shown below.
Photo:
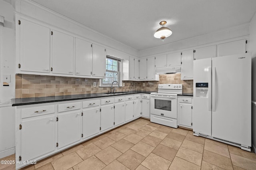
[[[177,96],[150,96],[150,114],[177,119]]]

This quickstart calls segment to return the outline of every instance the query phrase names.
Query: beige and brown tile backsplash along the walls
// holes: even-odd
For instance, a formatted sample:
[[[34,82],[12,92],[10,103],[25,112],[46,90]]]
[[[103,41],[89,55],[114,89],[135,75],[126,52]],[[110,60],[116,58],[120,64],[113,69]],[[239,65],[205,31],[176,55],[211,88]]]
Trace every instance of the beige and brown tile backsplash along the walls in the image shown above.
[[[96,87],[93,87],[93,82],[96,82]],[[183,93],[193,93],[193,80],[180,80],[180,74],[160,75],[160,81],[123,81],[123,83],[125,86],[118,88],[118,92],[158,91],[159,83],[182,83]],[[106,93],[109,89],[110,87],[99,87],[99,79],[18,74],[15,98]]]

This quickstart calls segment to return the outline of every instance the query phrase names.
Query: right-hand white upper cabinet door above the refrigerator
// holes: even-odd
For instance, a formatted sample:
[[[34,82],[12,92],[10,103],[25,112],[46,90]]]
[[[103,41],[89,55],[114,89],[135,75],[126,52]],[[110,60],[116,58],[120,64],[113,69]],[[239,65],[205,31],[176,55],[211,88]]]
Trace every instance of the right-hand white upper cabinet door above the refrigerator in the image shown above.
[[[240,54],[246,52],[246,40],[238,40],[218,45],[218,56]]]

